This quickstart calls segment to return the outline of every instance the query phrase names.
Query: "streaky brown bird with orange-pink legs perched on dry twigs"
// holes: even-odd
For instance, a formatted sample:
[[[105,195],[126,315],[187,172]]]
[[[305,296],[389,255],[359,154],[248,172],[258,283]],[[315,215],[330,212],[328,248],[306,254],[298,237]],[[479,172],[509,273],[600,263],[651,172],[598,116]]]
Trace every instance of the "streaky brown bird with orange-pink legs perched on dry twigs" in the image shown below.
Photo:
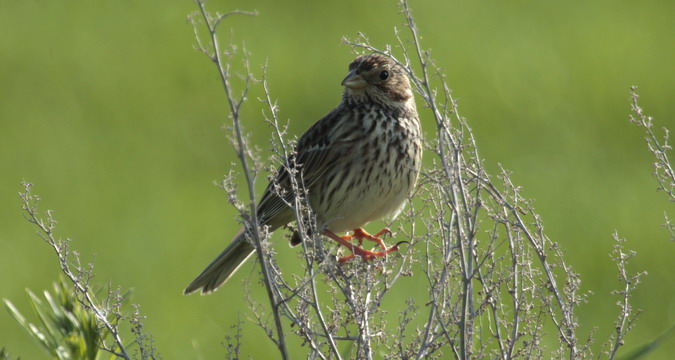
[[[339,105],[300,137],[292,163],[294,173],[301,173],[318,231],[352,251],[340,262],[356,256],[372,260],[398,250],[398,244],[387,248],[380,237],[389,229],[371,235],[362,227],[395,219],[412,195],[422,163],[421,125],[406,70],[389,56],[356,57],[341,85]],[[291,176],[297,175],[290,173],[280,167],[258,202],[257,219],[270,232],[295,220],[288,204],[295,196]],[[337,235],[351,230],[352,235]],[[291,244],[297,245],[299,237],[293,238]],[[363,249],[363,239],[382,251]],[[215,291],[254,252],[240,230],[184,294]]]

